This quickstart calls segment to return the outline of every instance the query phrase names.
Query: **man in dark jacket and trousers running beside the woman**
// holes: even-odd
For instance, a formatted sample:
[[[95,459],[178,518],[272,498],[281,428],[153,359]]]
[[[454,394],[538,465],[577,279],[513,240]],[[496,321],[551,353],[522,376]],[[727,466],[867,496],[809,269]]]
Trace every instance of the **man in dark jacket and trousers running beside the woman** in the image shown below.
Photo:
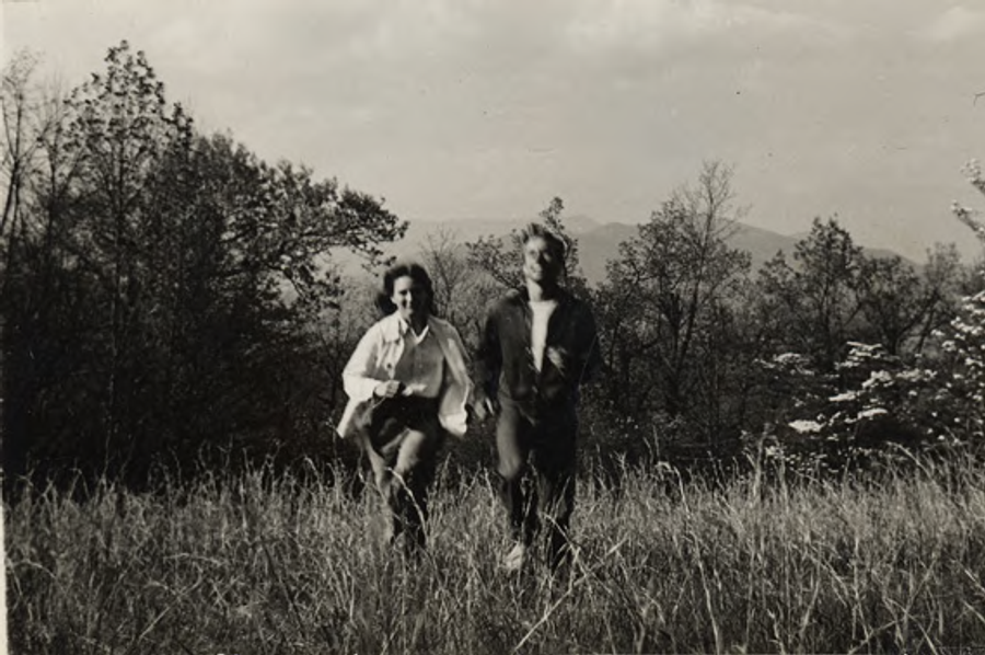
[[[522,567],[542,520],[552,568],[569,554],[578,391],[601,364],[591,310],[559,284],[564,241],[531,225],[522,249],[525,288],[489,310],[476,357],[478,411],[499,413],[500,494],[513,539],[508,571]],[[529,489],[523,478],[531,469],[535,484]]]

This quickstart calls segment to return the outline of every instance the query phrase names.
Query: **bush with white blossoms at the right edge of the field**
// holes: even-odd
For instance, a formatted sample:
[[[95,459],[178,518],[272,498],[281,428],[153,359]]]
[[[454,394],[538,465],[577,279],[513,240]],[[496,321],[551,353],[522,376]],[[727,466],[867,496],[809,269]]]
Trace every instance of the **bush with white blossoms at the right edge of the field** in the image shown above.
[[[985,195],[978,162],[964,171]],[[952,211],[985,244],[978,212],[957,203]],[[978,275],[985,283],[985,271]],[[985,444],[985,291],[961,297],[954,318],[912,360],[878,345],[848,345],[834,378],[818,377],[792,354],[766,364],[790,382],[796,397],[788,406],[798,414],[777,428],[777,444],[769,449],[775,457],[841,467],[888,444]],[[810,383],[798,383],[803,381]]]

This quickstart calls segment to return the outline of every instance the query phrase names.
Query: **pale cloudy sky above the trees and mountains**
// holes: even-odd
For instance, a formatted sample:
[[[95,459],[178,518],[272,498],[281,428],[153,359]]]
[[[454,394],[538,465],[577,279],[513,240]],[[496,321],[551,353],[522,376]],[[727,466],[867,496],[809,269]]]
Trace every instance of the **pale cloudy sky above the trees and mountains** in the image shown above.
[[[981,254],[985,3],[948,0],[3,0],[2,51],[72,87],[121,39],[169,100],[402,218],[640,222],[704,161],[743,222],[837,216],[917,261]],[[463,223],[465,225],[465,223]],[[474,226],[468,228],[475,229]]]

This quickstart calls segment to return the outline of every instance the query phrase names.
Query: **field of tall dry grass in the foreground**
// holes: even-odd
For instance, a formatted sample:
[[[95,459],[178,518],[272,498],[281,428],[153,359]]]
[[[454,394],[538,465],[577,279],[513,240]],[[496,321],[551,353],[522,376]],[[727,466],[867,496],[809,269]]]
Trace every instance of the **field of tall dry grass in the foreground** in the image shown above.
[[[5,508],[13,653],[969,652],[985,648],[985,471],[725,487],[582,481],[568,576],[497,568],[488,478],[439,483],[429,555],[372,494],[264,471]],[[670,493],[669,493],[670,492]]]

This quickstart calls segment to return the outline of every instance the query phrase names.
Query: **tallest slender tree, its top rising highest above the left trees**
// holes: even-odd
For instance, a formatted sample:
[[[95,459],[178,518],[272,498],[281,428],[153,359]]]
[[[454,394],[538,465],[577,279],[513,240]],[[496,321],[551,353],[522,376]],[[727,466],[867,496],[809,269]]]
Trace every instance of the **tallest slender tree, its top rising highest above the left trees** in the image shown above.
[[[161,272],[152,264],[167,237],[167,218],[150,203],[169,156],[188,152],[192,122],[179,105],[169,106],[164,84],[157,79],[142,51],[132,54],[127,42],[109,48],[106,72],[93,74],[70,95],[68,148],[79,157],[78,186],[71,217],[69,248],[83,258],[84,274],[99,289],[109,324],[105,332],[106,377],[102,411],[106,443],[134,456],[128,416],[138,400],[141,324],[147,315],[152,278]],[[167,252],[164,261],[171,261]],[[165,275],[165,278],[167,276]],[[152,302],[152,301],[151,301]]]

